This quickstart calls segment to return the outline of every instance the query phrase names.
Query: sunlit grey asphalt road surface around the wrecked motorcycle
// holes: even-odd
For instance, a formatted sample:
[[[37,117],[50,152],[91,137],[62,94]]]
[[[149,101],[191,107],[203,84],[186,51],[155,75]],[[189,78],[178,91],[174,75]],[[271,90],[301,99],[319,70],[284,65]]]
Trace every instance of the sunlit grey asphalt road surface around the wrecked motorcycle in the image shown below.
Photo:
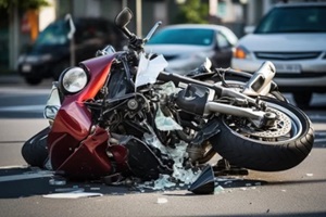
[[[324,95],[316,95],[305,111],[316,140],[299,166],[279,173],[250,170],[248,176],[216,177],[214,194],[197,195],[187,186],[151,190],[102,182],[53,184],[51,173],[27,167],[21,148],[47,126],[41,117],[50,86],[49,81],[37,88],[21,80],[0,81],[1,216],[326,216]],[[54,197],[60,195],[63,199]]]

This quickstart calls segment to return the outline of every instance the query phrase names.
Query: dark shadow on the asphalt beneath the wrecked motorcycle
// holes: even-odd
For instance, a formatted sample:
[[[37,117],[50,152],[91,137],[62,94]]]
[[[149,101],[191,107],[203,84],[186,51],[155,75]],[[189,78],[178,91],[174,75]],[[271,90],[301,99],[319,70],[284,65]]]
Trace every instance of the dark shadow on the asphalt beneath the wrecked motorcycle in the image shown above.
[[[188,190],[188,186],[176,186],[164,188],[161,190],[151,189],[148,186],[108,186],[102,181],[70,181],[64,183],[51,184],[53,175],[50,171],[45,171],[32,167],[25,168],[1,168],[0,169],[0,199],[18,199],[35,195],[47,195],[53,193],[68,193],[73,191],[83,191],[91,193],[101,193],[106,195],[124,195],[133,193],[151,193],[164,191],[185,190],[186,195],[196,195]],[[266,184],[266,181],[243,179],[242,177],[215,177],[215,187],[220,191],[224,188],[251,188]],[[179,194],[178,194],[179,195]]]

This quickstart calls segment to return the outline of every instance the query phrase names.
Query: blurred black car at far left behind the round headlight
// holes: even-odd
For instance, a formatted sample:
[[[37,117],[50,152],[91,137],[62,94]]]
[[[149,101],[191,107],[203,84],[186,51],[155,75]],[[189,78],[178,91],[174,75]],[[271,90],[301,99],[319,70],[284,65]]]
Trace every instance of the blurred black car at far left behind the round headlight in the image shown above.
[[[78,17],[75,25],[73,52],[75,63],[95,58],[106,44],[122,49],[125,37],[111,22],[103,18]],[[18,58],[18,73],[29,85],[43,78],[57,80],[63,69],[71,66],[71,26],[67,20],[58,20],[46,27],[36,41]]]

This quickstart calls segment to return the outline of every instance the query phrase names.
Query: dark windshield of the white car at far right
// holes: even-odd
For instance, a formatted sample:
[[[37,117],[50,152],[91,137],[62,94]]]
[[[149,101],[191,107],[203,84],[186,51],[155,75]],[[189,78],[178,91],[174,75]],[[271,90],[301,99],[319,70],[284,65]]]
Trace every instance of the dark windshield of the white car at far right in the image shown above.
[[[273,9],[254,34],[326,33],[326,7],[285,7]]]

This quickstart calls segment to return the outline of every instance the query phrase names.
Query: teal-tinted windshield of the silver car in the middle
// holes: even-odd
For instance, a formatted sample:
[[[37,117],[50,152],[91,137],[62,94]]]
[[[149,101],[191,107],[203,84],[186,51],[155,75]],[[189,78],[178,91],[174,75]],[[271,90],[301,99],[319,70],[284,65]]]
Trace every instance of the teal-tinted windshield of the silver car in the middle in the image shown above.
[[[154,35],[148,44],[191,44],[210,46],[214,30],[197,28],[168,28]]]

